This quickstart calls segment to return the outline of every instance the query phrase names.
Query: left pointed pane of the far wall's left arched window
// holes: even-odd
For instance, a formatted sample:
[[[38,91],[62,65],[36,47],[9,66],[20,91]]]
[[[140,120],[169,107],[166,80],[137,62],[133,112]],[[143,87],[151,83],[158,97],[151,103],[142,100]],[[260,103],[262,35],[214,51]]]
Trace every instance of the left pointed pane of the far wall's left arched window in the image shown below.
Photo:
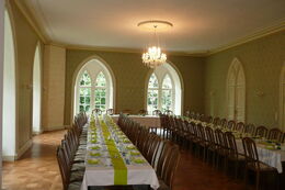
[[[80,78],[79,85],[79,111],[89,112],[91,102],[91,78],[87,70]]]

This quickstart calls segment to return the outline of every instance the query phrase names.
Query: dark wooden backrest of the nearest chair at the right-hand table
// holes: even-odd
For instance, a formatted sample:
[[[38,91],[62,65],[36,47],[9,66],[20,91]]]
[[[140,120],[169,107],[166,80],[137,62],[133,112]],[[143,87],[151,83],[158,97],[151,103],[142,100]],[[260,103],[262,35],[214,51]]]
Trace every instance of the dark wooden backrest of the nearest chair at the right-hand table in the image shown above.
[[[247,165],[253,166],[255,169],[260,170],[259,154],[255,142],[250,137],[244,137],[242,138],[242,145]]]

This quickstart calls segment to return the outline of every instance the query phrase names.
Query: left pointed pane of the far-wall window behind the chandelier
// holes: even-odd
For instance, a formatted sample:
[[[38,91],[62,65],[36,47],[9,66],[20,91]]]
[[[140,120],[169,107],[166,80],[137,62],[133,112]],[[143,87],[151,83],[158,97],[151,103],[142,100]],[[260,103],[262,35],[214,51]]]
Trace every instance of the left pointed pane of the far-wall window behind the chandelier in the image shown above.
[[[156,75],[152,74],[148,82],[148,100],[147,100],[148,101],[147,110],[150,113],[152,113],[152,111],[158,109],[158,91],[159,91],[158,79]]]

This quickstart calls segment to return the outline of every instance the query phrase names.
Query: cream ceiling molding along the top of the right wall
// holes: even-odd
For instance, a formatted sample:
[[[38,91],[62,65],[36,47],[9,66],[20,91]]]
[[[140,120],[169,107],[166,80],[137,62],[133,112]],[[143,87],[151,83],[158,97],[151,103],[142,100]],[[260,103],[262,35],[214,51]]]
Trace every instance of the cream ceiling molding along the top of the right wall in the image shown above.
[[[251,35],[248,35],[248,36],[244,36],[242,38],[239,38],[239,40],[237,40],[237,41],[235,41],[232,43],[229,43],[227,45],[209,49],[208,55],[217,54],[217,53],[227,51],[229,48],[232,48],[232,47],[236,47],[236,46],[249,43],[251,41],[254,41],[254,40],[258,40],[258,38],[261,38],[261,37],[264,37],[264,36],[271,35],[271,34],[274,34],[274,33],[278,33],[281,31],[285,31],[285,21],[283,21],[281,23],[277,23],[275,25],[272,25],[270,27],[262,29],[262,30],[260,30],[260,31],[258,31],[258,32],[255,32],[255,33],[253,33]]]

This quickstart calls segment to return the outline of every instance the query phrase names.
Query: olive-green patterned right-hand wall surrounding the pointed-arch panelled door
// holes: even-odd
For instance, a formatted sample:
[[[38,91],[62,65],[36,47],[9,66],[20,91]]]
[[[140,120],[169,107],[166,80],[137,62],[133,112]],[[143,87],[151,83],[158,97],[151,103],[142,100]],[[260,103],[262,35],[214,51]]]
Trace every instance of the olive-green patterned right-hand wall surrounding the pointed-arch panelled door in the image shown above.
[[[228,68],[237,57],[246,74],[246,121],[278,126],[280,76],[285,63],[285,32],[265,36],[206,58],[205,112],[227,116],[226,81]],[[258,93],[263,92],[263,97]]]

